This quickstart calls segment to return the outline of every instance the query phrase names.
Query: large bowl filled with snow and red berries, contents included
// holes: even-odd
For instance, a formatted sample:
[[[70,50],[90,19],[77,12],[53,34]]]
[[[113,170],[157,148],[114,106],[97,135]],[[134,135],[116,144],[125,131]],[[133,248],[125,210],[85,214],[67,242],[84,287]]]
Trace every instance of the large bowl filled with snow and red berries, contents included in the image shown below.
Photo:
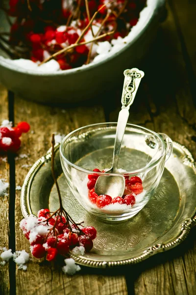
[[[110,2],[110,0],[108,1]],[[8,2],[14,5],[11,11]],[[128,16],[121,14],[123,20],[120,18],[121,20],[118,21],[120,24],[117,26],[118,31],[115,31],[115,34],[105,35],[105,39],[101,37],[101,39],[93,42],[95,50],[93,52],[92,48],[89,63],[87,62],[87,53],[89,53],[92,43],[90,28],[84,34],[84,41],[90,43],[83,44],[82,47],[72,48],[73,53],[69,51],[69,54],[66,54],[67,60],[65,53],[63,53],[38,66],[37,62],[42,62],[56,51],[59,52],[59,50],[67,48],[66,46],[73,45],[71,43],[76,42],[76,37],[78,38],[83,27],[82,29],[72,28],[75,26],[75,19],[72,20],[73,24],[70,23],[71,26],[65,26],[69,15],[64,15],[64,18],[60,18],[60,21],[57,19],[57,24],[60,24],[60,26],[55,28],[46,26],[46,24],[43,25],[43,23],[40,24],[40,19],[48,17],[46,15],[48,11],[46,7],[48,6],[52,10],[49,17],[51,15],[54,18],[56,17],[56,10],[53,5],[59,5],[59,1],[37,1],[39,7],[35,7],[37,5],[35,1],[31,2],[32,13],[27,7],[27,2],[21,4],[21,1],[3,1],[6,10],[8,9],[9,14],[14,16],[12,18],[14,25],[11,28],[13,44],[10,46],[10,25],[5,13],[0,11],[0,81],[8,89],[26,99],[50,103],[54,103],[54,101],[55,103],[73,103],[90,99],[95,96],[95,93],[99,95],[105,89],[113,89],[116,82],[121,78],[123,79],[121,75],[123,70],[134,67],[145,56],[165,12],[165,0],[129,0],[127,5],[129,4],[131,14]],[[77,3],[76,0],[62,1],[65,5],[68,2]],[[102,3],[103,1],[88,2],[89,4],[90,2],[97,3],[96,9],[98,9],[99,2]],[[120,6],[126,1],[111,2],[118,4],[119,8],[115,9],[120,13]],[[81,3],[84,4],[84,0]],[[134,3],[137,4],[136,7]],[[23,9],[18,9],[18,5],[23,5]],[[85,10],[84,7],[81,7],[81,9]],[[92,6],[91,9],[93,9]],[[33,11],[39,11],[40,14],[33,13]],[[92,17],[94,10],[90,12]],[[16,17],[17,21],[15,20]],[[36,21],[39,20],[36,25],[34,25],[34,18]],[[94,35],[98,33],[98,26],[104,18],[105,15],[99,11],[96,16],[96,23],[93,24]],[[110,21],[112,22],[111,18]],[[46,23],[48,24],[48,19]],[[53,20],[53,23],[56,24],[56,19]],[[104,28],[101,35],[107,34],[108,29],[112,29],[110,23],[108,26],[108,28]],[[66,31],[67,27],[69,28]],[[78,30],[80,30],[79,33]],[[67,35],[69,38],[67,38]],[[111,38],[107,41],[110,36]],[[64,40],[64,37],[67,39]],[[24,40],[27,40],[27,47]],[[20,55],[17,57],[15,55],[16,50],[20,51]],[[25,51],[27,59],[21,59],[21,51]]]

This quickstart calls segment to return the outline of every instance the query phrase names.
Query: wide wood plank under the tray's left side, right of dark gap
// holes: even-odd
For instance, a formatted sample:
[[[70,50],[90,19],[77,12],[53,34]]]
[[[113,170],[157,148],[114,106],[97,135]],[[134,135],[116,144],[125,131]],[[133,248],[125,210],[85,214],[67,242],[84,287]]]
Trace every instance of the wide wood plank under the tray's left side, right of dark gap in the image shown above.
[[[26,120],[31,125],[31,132],[23,136],[21,154],[27,158],[16,161],[16,185],[22,185],[28,167],[50,148],[52,132],[69,133],[71,130],[90,123],[104,121],[102,108],[99,106],[70,108],[61,110],[48,106],[15,99],[15,121]],[[20,193],[16,195],[16,249],[29,252],[29,243],[19,229],[22,219]],[[127,294],[125,278],[122,275],[103,276],[100,274],[77,274],[68,277],[59,269],[50,266],[39,266],[36,259],[28,264],[26,272],[17,270],[17,294]]]

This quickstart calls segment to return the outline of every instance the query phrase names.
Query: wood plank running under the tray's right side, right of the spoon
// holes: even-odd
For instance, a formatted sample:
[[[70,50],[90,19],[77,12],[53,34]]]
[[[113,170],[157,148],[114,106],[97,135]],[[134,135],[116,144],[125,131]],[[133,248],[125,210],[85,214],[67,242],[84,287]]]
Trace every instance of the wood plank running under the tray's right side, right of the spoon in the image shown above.
[[[178,1],[175,3],[177,6]],[[172,140],[189,148],[196,158],[196,108],[181,40],[171,8],[168,9],[168,18],[141,66],[145,77],[131,106],[129,121],[168,134]],[[117,105],[120,110],[120,96]],[[110,120],[116,119],[117,111],[114,111]],[[185,254],[183,247],[131,267],[126,278],[135,281],[135,295],[196,294],[194,235],[189,239]]]

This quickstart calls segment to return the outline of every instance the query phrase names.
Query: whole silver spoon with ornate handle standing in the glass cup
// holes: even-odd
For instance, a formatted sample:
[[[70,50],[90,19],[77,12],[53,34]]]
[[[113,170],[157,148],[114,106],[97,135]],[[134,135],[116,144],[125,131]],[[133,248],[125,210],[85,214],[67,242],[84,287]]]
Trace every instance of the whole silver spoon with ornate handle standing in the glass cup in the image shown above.
[[[112,168],[105,173],[119,173],[117,165],[121,146],[123,142],[124,131],[129,117],[129,107],[133,103],[137,89],[141,79],[144,77],[144,72],[133,68],[124,71],[124,84],[122,94],[122,110],[119,112],[117,123],[116,138],[114,143],[114,153]],[[99,176],[95,185],[95,192],[99,195],[109,195],[112,198],[122,197],[125,187],[125,179],[123,176]]]

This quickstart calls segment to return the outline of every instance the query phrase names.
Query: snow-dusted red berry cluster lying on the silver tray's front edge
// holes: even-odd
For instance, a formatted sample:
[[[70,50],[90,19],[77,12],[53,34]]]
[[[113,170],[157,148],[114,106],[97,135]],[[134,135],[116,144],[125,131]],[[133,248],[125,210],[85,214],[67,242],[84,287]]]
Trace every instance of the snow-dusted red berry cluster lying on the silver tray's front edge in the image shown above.
[[[38,217],[29,216],[21,221],[21,229],[30,242],[31,253],[36,258],[46,256],[55,260],[57,254],[68,255],[76,246],[88,252],[97,236],[94,227],[78,227],[62,215],[50,214],[49,209],[38,211]]]

